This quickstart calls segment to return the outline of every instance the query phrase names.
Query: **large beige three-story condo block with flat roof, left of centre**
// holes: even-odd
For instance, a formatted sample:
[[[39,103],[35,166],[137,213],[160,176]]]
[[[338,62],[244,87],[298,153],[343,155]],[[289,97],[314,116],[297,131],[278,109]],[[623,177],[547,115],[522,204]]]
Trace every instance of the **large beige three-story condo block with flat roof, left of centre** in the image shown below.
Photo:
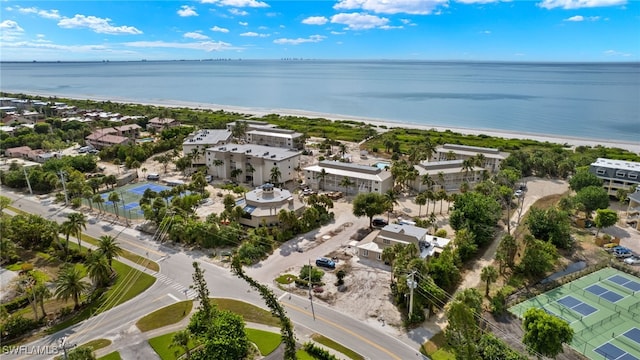
[[[259,186],[274,180],[278,183],[296,178],[300,166],[300,151],[253,144],[226,144],[206,150],[208,174]],[[277,168],[277,170],[274,170]]]

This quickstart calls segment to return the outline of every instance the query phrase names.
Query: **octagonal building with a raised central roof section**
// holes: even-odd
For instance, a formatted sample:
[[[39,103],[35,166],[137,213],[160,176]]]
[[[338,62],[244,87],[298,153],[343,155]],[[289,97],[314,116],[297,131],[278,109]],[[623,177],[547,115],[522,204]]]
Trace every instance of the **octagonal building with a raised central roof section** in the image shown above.
[[[305,205],[295,199],[289,190],[280,189],[273,184],[264,184],[245,194],[245,199],[238,203],[244,210],[240,224],[259,226],[278,226],[280,211],[293,211],[300,216]]]

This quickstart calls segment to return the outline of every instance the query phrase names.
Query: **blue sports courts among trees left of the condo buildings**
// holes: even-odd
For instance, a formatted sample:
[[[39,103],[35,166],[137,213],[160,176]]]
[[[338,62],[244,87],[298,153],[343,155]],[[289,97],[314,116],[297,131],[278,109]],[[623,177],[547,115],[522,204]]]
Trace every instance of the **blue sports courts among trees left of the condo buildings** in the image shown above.
[[[100,197],[104,199],[104,204],[103,204],[104,211],[115,214],[113,202],[109,201],[109,195],[112,192],[115,192],[116,194],[118,194],[118,197],[120,198],[120,200],[117,203],[119,216],[126,217],[128,219],[143,219],[144,213],[140,208],[140,199],[142,198],[142,195],[147,189],[155,192],[160,192],[162,190],[171,190],[171,188],[168,186],[162,186],[156,183],[145,182],[145,183],[127,184],[113,191],[100,194]]]

